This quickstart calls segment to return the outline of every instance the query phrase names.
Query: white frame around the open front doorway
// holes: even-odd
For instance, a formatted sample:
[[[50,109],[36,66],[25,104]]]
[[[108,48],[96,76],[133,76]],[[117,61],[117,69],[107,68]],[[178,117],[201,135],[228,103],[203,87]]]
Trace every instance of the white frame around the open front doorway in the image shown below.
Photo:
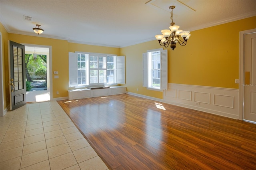
[[[50,80],[50,101],[53,101],[52,95],[52,46],[50,45],[38,45],[38,44],[29,44],[29,43],[21,43],[25,46],[32,46],[32,47],[42,47],[42,48],[49,48],[49,80]]]

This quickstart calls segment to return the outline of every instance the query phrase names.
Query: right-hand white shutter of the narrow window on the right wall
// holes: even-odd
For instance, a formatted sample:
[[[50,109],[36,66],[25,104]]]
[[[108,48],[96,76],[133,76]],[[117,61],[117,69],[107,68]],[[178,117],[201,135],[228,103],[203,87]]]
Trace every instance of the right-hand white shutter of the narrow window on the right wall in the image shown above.
[[[161,50],[161,83],[160,89],[167,90],[168,87],[168,54],[167,49]]]

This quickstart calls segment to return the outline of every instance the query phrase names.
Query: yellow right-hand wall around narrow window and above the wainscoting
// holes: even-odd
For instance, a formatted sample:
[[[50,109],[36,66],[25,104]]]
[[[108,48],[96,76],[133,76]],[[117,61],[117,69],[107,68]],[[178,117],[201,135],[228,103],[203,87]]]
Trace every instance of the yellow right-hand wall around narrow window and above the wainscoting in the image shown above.
[[[256,16],[196,30],[186,46],[167,48],[168,83],[238,89],[234,82],[239,78],[239,32],[256,28],[255,21]],[[142,53],[157,48],[161,48],[157,40],[121,48],[129,92],[162,99],[161,92],[142,87]]]

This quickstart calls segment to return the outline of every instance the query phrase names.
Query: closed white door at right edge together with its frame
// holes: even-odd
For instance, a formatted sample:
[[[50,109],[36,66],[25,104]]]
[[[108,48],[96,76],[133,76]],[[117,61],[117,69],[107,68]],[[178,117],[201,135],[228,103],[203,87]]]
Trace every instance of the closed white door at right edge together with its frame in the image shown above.
[[[256,123],[256,29],[240,32],[239,119]]]

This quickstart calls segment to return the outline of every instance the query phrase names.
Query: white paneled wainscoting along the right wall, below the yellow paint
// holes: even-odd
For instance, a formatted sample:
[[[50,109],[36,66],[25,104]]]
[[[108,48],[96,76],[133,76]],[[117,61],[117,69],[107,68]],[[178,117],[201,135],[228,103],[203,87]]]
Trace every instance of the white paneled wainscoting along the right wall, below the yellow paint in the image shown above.
[[[163,101],[238,119],[238,96],[238,89],[169,83]]]

